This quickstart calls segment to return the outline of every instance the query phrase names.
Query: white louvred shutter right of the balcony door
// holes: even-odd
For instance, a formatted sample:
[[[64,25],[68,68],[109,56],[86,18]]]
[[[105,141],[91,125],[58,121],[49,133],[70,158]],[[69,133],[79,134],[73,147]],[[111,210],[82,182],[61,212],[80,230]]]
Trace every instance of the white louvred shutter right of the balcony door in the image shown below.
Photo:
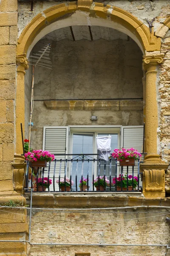
[[[121,147],[122,148],[135,148],[138,152],[143,150],[143,126],[123,126],[121,134]],[[143,160],[143,156],[142,156]],[[129,167],[129,172],[131,171]],[[138,173],[138,162],[135,162],[134,175]],[[140,181],[141,185],[141,181]]]

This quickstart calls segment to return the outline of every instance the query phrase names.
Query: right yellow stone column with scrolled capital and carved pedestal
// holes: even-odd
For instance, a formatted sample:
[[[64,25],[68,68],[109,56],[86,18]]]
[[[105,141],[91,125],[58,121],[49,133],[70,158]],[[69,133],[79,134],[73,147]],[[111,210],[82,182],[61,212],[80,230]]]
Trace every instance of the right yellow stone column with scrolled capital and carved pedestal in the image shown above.
[[[147,156],[140,166],[143,173],[143,194],[145,197],[165,197],[165,170],[168,165],[160,159],[157,151],[158,103],[156,96],[157,67],[163,62],[163,55],[144,56],[145,84],[145,144]]]

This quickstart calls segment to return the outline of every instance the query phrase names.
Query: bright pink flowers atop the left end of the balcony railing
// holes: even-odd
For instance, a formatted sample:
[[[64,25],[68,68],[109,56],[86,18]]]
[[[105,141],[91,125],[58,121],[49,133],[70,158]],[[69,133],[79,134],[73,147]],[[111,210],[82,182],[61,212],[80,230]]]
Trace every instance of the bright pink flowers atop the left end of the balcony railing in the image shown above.
[[[26,160],[33,162],[37,160],[46,160],[47,162],[54,160],[54,154],[49,151],[33,150],[25,154]]]

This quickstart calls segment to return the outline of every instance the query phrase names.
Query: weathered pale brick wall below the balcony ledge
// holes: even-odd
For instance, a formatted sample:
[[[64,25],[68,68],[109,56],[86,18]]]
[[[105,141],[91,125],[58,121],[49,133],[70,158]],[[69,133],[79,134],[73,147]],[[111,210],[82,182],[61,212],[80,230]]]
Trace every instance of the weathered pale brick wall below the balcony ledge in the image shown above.
[[[75,244],[168,244],[170,227],[165,221],[167,211],[166,208],[54,212],[33,209],[31,241]],[[33,246],[29,247],[28,252],[31,256],[37,256],[38,251],[38,255],[41,256],[44,255],[44,250],[48,250],[48,256],[74,256],[75,252],[88,252],[92,256],[164,256],[165,253],[170,255],[166,247],[122,246],[51,245],[48,249],[46,246]]]

